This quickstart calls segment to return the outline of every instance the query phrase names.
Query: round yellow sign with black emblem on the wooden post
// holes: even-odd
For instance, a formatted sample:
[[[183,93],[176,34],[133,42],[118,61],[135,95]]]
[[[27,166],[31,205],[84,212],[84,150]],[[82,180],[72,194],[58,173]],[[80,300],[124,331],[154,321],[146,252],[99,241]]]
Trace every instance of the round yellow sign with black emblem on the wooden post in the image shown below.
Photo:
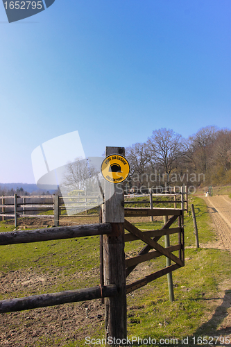
[[[129,172],[130,165],[123,155],[108,155],[101,164],[101,173],[103,178],[110,183],[124,182],[128,178]]]

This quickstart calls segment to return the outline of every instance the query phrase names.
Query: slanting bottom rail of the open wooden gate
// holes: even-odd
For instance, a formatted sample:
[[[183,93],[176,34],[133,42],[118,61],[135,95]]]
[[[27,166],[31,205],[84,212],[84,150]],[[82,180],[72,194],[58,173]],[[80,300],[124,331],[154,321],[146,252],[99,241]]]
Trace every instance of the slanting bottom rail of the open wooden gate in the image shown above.
[[[156,280],[157,278],[160,278],[166,275],[167,273],[170,273],[179,268],[180,268],[180,265],[178,264],[170,265],[160,271],[156,271],[155,273],[152,273],[151,275],[145,276],[144,278],[141,278],[140,280],[129,283],[128,285],[126,285],[126,293],[128,294],[133,290],[144,287],[144,285],[147,285],[149,282],[152,282],[153,280]]]

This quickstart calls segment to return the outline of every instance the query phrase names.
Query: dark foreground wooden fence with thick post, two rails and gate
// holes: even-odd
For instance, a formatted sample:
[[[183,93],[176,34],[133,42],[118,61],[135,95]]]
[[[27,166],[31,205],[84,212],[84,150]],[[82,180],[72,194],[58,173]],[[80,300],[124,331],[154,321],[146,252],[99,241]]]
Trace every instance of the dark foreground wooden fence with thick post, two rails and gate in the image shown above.
[[[114,153],[124,155],[124,149],[118,147],[106,148],[106,155]],[[3,300],[0,301],[0,313],[105,298],[105,338],[126,339],[126,294],[147,285],[148,282],[160,276],[179,269],[185,264],[184,209],[124,208],[124,194],[121,193],[123,192],[123,189],[121,189],[123,184],[114,185],[114,194],[111,192],[112,188],[113,185],[111,183],[105,183],[105,201],[102,205],[101,214],[102,223],[0,233],[0,245],[2,246],[26,242],[42,242],[51,239],[101,235],[100,285],[92,288],[62,291],[60,293]],[[132,225],[130,221],[124,219],[124,217],[137,216],[169,216],[170,218],[160,230],[142,232]],[[178,226],[170,228],[177,219]],[[128,233],[125,233],[124,230],[128,230]],[[178,242],[175,245],[164,248],[158,243],[163,235],[173,234],[178,234]],[[146,246],[135,257],[126,259],[124,253],[125,242],[137,239],[141,239]],[[173,254],[176,251],[178,255]],[[126,277],[135,269],[137,264],[160,256],[167,257],[173,264],[126,285]]]

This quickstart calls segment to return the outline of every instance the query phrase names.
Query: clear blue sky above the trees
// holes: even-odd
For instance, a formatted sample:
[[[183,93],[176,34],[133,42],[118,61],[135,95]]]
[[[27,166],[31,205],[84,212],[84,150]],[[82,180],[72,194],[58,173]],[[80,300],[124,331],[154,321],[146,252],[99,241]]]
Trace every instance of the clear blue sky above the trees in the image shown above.
[[[86,155],[231,128],[230,0],[55,0],[8,24],[0,3],[0,183],[34,183],[32,151],[78,130]]]

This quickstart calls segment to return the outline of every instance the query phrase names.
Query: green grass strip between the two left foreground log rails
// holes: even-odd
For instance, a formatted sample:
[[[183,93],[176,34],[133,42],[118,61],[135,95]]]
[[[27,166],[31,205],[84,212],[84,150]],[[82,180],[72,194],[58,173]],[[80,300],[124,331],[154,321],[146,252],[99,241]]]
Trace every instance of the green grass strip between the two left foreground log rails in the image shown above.
[[[86,254],[87,248],[91,251]],[[31,244],[12,244],[4,246],[0,253],[0,271],[17,271],[37,267],[37,263],[44,271],[61,268],[65,274],[92,269],[98,260],[99,237],[79,237],[78,239],[64,239]],[[3,247],[3,246],[2,246]]]

